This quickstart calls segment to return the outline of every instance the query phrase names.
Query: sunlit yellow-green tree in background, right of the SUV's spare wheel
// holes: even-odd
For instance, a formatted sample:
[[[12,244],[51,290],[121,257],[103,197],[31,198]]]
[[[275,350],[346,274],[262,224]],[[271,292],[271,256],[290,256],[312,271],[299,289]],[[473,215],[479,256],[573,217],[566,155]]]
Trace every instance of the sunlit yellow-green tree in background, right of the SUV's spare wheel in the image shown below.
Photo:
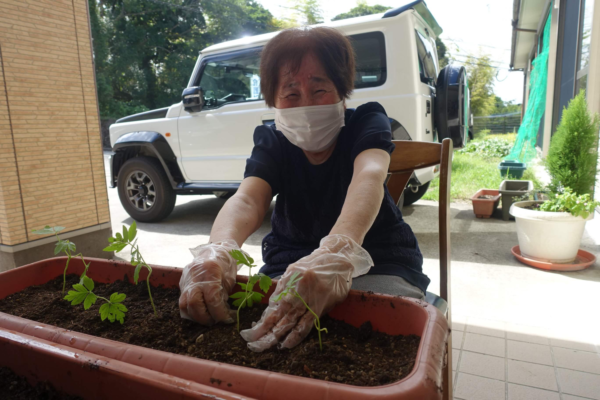
[[[469,55],[464,62],[471,92],[471,111],[476,117],[490,115],[496,107],[495,72],[490,63],[491,58],[487,54],[479,57]]]

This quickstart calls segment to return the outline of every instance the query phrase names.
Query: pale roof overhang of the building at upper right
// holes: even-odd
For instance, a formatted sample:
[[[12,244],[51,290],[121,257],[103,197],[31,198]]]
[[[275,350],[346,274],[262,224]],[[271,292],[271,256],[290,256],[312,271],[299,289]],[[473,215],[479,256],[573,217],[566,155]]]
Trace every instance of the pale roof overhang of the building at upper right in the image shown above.
[[[511,69],[527,68],[531,49],[537,43],[541,20],[546,16],[548,4],[549,0],[514,0]]]

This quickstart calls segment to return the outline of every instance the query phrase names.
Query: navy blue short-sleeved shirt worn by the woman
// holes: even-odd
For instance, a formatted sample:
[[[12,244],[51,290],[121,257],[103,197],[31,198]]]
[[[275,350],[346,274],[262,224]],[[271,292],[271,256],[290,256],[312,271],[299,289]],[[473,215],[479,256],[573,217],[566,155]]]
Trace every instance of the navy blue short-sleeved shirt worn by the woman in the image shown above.
[[[281,275],[289,264],[319,247],[342,212],[356,156],[368,149],[394,150],[390,121],[379,103],[346,110],[345,123],[333,153],[320,165],[312,165],[275,125],[261,125],[254,131],[244,177],[265,180],[273,196],[278,195],[272,231],[263,239],[265,265],[260,271],[264,274]],[[362,246],[375,264],[369,274],[397,275],[425,292],[429,278],[423,274],[417,238],[387,187]]]

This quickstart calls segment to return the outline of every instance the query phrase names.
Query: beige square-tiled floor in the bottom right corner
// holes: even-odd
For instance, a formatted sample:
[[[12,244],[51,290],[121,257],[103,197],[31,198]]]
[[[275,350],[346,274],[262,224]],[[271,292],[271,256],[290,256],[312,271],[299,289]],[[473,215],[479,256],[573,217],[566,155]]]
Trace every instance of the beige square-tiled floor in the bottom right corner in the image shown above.
[[[455,399],[600,400],[598,343],[501,321],[453,319]]]

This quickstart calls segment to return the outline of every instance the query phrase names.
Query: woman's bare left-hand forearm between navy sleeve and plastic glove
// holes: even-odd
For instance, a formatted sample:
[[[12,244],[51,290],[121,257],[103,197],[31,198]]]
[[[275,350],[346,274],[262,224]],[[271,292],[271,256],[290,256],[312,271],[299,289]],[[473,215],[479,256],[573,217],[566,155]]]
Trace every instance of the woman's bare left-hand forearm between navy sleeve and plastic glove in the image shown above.
[[[244,179],[219,211],[210,232],[211,243],[233,239],[242,247],[260,228],[272,199],[271,186],[266,181],[254,176]]]

